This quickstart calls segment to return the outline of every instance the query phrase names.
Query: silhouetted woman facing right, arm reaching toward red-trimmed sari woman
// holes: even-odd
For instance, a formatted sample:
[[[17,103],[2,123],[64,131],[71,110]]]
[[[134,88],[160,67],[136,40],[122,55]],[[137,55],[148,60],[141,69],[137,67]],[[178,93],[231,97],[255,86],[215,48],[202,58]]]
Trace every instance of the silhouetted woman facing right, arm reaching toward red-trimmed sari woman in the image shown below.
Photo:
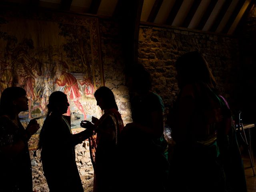
[[[83,186],[76,166],[74,147],[92,135],[92,130],[72,134],[65,114],[68,99],[61,91],[53,92],[47,105],[48,114],[40,132],[39,147],[44,176],[50,192],[83,192]],[[55,159],[58,158],[58,161]]]

